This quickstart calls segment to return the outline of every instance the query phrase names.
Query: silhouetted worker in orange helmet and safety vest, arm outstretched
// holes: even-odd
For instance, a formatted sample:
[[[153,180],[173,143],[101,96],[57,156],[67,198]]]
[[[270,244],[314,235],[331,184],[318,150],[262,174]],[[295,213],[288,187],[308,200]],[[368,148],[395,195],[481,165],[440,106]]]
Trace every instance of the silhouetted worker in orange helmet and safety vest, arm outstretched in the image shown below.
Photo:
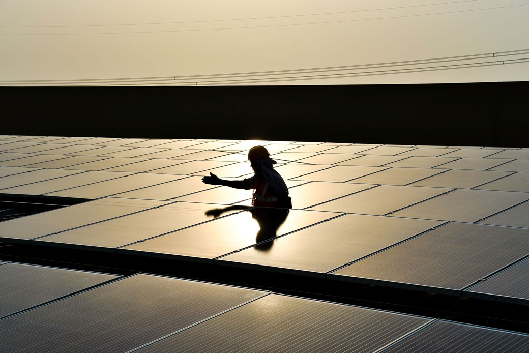
[[[209,173],[202,181],[205,184],[224,185],[236,189],[254,189],[253,206],[292,208],[288,187],[285,180],[272,168],[276,161],[271,159],[270,153],[263,146],[252,147],[248,151],[248,159],[255,174],[244,180],[224,180]]]

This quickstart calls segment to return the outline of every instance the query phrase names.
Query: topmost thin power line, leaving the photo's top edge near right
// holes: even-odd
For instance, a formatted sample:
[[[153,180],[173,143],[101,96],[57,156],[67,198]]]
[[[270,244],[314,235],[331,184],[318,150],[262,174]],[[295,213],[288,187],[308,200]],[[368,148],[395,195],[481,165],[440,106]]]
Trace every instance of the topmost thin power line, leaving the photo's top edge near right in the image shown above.
[[[152,25],[152,24],[181,24],[181,23],[203,23],[203,22],[224,22],[224,21],[248,21],[248,20],[267,20],[267,19],[282,19],[286,17],[302,17],[302,16],[318,16],[318,15],[334,15],[342,13],[354,13],[354,12],[368,12],[368,11],[381,11],[381,10],[395,10],[397,8],[409,8],[409,7],[422,7],[422,6],[433,6],[433,5],[444,5],[444,4],[456,4],[456,3],[469,3],[478,0],[461,0],[451,1],[446,3],[435,3],[435,4],[423,4],[423,5],[409,5],[409,6],[396,6],[396,7],[382,7],[372,8],[369,10],[353,10],[353,11],[338,11],[338,12],[323,12],[323,13],[312,13],[302,15],[285,15],[285,16],[268,16],[268,17],[247,17],[244,19],[225,19],[225,20],[203,20],[203,21],[183,21],[183,22],[150,22],[150,23],[121,23],[121,24],[79,24],[79,25],[63,25],[63,26],[0,26],[0,28],[67,28],[67,27],[103,27],[103,26],[136,26],[136,25]]]

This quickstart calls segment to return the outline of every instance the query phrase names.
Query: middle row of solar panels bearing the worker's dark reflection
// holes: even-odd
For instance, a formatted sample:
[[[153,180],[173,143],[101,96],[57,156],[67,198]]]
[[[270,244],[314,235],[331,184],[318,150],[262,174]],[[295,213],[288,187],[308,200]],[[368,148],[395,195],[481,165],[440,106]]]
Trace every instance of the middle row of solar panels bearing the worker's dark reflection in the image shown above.
[[[0,237],[529,303],[528,261],[519,262],[529,254],[526,228],[262,207],[239,211],[105,198],[2,222]]]

